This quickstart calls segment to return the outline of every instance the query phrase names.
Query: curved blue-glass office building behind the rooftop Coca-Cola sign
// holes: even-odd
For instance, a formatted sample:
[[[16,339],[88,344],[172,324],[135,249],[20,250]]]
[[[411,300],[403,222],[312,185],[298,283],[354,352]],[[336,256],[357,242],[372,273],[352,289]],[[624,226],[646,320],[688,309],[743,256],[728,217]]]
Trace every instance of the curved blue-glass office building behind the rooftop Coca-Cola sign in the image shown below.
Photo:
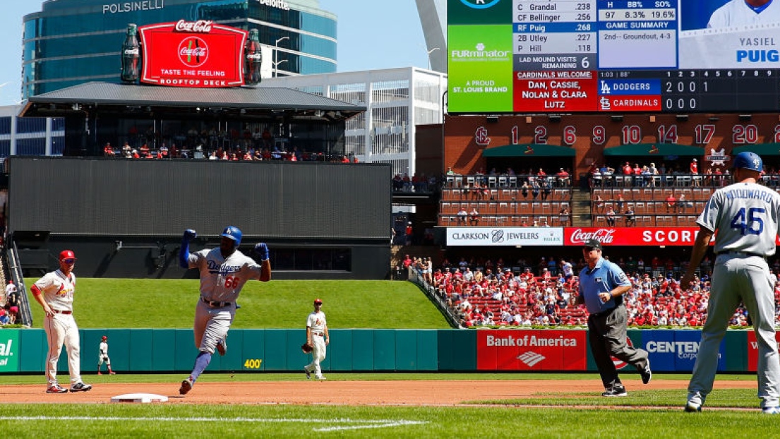
[[[213,20],[257,29],[278,76],[335,73],[336,16],[319,0],[48,0],[23,19],[23,98],[90,81],[119,83],[129,23]]]

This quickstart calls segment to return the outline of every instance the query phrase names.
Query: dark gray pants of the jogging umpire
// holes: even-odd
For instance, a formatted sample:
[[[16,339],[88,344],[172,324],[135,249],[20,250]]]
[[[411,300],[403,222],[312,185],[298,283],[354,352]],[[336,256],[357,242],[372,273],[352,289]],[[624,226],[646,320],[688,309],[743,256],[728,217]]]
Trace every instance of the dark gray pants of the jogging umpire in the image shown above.
[[[626,342],[627,321],[626,306],[622,304],[603,313],[590,314],[587,319],[590,352],[596,361],[605,389],[622,384],[610,356],[637,369],[644,368],[647,362],[646,350],[634,349]]]

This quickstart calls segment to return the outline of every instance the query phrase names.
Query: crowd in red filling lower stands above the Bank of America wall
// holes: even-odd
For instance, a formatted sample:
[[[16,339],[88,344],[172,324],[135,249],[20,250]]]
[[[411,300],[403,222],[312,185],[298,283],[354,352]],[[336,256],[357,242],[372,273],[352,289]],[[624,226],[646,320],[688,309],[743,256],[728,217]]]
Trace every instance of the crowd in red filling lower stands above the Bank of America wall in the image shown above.
[[[637,262],[619,259],[618,264],[629,274],[633,288],[624,296],[631,327],[700,327],[707,320],[710,292],[711,261],[704,260],[701,276],[695,278],[692,289],[679,285],[679,267],[669,259],[655,257],[647,270],[637,268]],[[457,264],[444,260],[441,267],[428,273],[430,258],[407,258],[403,263],[417,271],[427,288],[444,300],[460,318],[461,327],[530,327],[583,326],[587,311],[575,306],[579,281],[577,273],[583,260],[574,264],[574,275],[557,275],[561,261],[545,260],[532,267],[519,260],[514,267],[505,267],[503,260],[466,260]],[[780,260],[771,264],[775,277],[775,303],[780,303],[780,281],[777,279]],[[668,270],[667,270],[668,269]],[[676,269],[677,271],[672,271]],[[743,306],[734,310],[730,324],[749,325]],[[780,306],[775,308],[775,327],[780,327]]]

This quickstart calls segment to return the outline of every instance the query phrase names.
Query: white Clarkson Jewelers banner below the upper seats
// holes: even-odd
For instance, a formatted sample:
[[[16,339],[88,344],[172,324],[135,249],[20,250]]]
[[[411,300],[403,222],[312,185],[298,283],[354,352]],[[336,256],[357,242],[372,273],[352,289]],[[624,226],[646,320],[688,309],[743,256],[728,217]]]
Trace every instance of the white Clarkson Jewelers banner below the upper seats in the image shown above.
[[[562,246],[560,227],[447,228],[448,246]]]

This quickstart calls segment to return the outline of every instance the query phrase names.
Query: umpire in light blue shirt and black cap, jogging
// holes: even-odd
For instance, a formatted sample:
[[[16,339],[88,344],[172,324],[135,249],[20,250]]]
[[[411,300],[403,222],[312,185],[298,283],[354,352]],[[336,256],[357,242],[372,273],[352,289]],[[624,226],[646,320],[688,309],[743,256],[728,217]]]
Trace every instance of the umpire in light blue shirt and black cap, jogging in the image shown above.
[[[577,303],[584,303],[590,314],[588,341],[605,388],[601,396],[626,396],[628,393],[610,356],[636,367],[644,384],[653,376],[647,351],[634,349],[626,341],[628,312],[623,305],[623,294],[631,289],[631,281],[617,264],[601,257],[601,242],[597,239],[585,242],[583,257],[587,267],[580,271]]]

